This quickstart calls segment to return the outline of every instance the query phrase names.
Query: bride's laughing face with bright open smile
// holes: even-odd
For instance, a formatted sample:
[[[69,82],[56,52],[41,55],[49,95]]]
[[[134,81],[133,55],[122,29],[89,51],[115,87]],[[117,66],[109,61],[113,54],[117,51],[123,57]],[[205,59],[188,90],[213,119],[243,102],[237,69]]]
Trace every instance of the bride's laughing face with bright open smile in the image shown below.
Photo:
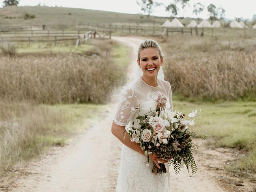
[[[157,48],[145,48],[140,51],[140,60],[137,60],[137,63],[142,69],[143,76],[152,78],[157,76],[163,58],[160,58]]]

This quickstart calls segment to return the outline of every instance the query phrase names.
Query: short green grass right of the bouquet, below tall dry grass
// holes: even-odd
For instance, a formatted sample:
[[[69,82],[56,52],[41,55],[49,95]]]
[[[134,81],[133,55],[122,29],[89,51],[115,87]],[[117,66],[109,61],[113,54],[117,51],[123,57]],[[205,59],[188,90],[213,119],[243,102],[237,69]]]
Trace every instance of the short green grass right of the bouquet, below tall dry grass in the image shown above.
[[[174,110],[185,112],[186,116],[195,108],[202,108],[196,124],[191,130],[211,138],[207,144],[215,147],[242,149],[245,157],[233,162],[227,169],[243,174],[244,170],[256,173],[256,102],[186,102],[174,97]]]

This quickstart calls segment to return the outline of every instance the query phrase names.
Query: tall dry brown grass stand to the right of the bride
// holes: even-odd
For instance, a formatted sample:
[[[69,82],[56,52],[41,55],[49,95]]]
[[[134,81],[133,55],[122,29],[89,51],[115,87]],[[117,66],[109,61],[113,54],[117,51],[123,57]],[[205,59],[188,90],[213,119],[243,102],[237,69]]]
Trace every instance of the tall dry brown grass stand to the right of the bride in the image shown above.
[[[221,41],[222,42],[222,41]],[[212,38],[168,39],[164,72],[172,89],[183,97],[216,101],[255,99],[256,52],[253,43],[222,43]]]

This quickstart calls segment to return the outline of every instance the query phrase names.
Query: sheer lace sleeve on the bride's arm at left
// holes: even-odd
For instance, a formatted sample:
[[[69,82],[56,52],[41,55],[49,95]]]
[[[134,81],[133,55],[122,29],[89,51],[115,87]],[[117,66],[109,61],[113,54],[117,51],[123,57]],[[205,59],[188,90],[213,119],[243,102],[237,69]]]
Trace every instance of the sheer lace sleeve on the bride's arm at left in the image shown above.
[[[120,103],[118,104],[118,109],[114,117],[114,122],[116,125],[125,126],[128,125],[131,117],[136,112],[136,108],[139,106],[136,97],[136,92],[133,88],[128,87],[124,89]]]

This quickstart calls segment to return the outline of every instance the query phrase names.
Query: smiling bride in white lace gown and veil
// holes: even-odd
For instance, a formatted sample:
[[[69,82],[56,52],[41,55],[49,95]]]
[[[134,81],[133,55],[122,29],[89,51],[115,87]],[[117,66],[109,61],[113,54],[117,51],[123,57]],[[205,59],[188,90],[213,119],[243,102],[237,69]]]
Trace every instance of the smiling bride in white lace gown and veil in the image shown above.
[[[172,89],[163,78],[163,54],[156,41],[146,39],[138,48],[137,77],[123,91],[114,121],[112,134],[124,145],[121,152],[120,170],[116,192],[167,192],[170,191],[166,173],[155,175],[151,172],[154,164],[166,163],[156,154],[149,155],[149,166],[145,164],[145,153],[140,144],[124,137],[124,130],[138,127],[136,117],[143,116],[155,108],[159,94],[167,99],[166,108],[172,108]],[[142,72],[142,73],[141,73]],[[139,74],[141,73],[142,76]],[[133,125],[134,123],[134,125]]]

